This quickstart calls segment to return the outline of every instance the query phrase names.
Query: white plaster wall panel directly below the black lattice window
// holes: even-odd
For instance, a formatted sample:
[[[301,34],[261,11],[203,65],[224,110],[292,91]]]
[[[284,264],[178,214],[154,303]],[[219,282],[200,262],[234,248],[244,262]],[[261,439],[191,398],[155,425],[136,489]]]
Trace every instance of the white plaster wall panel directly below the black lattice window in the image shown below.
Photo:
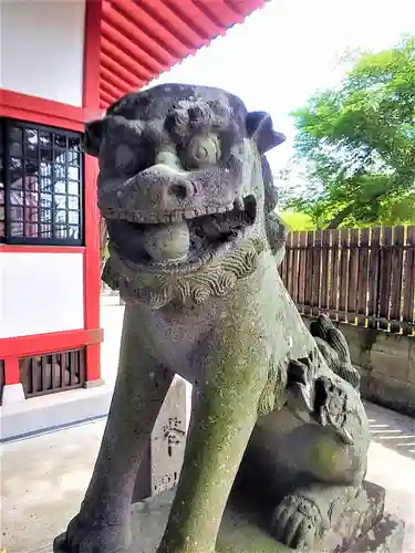
[[[0,252],[0,338],[83,328],[83,296],[82,253]]]

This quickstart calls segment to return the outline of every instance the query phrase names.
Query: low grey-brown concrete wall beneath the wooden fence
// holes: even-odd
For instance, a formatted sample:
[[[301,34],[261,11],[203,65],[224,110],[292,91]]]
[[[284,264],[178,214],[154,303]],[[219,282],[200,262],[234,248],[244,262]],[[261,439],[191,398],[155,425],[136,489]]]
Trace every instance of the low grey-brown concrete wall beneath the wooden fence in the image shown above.
[[[310,317],[304,317],[309,324]],[[362,396],[415,417],[415,336],[340,323],[362,375]]]

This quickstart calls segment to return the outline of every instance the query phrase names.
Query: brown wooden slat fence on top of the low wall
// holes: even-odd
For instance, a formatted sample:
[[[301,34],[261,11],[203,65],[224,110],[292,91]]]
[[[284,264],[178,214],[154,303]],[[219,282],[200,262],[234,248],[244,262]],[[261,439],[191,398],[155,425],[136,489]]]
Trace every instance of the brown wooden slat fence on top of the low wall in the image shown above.
[[[415,334],[415,226],[291,232],[280,274],[305,315]]]

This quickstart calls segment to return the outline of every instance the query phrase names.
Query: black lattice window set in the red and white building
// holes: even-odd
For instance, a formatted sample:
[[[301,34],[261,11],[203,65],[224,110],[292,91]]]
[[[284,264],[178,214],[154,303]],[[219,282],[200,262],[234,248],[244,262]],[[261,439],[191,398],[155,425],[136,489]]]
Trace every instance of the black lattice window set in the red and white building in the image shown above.
[[[82,135],[6,119],[1,142],[3,241],[82,244]]]

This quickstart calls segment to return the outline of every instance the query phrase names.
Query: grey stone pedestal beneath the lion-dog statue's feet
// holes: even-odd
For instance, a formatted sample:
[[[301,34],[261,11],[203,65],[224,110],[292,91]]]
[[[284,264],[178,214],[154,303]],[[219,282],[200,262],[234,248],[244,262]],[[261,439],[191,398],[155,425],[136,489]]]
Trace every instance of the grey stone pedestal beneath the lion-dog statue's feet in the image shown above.
[[[366,483],[364,490],[314,551],[331,553],[400,553],[404,523],[384,514],[384,489]],[[133,505],[131,553],[155,553],[167,523],[174,489]],[[256,513],[226,510],[217,542],[217,553],[299,552],[276,542],[257,523]]]

